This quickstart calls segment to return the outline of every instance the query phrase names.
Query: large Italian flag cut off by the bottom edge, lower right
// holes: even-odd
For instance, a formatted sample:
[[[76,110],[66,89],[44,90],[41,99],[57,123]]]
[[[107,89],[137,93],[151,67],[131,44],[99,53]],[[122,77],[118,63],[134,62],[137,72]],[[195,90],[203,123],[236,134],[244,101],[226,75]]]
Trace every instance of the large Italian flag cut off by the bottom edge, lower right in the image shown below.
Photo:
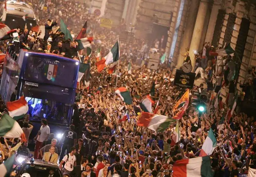
[[[172,170],[173,177],[212,177],[209,156],[177,160]]]

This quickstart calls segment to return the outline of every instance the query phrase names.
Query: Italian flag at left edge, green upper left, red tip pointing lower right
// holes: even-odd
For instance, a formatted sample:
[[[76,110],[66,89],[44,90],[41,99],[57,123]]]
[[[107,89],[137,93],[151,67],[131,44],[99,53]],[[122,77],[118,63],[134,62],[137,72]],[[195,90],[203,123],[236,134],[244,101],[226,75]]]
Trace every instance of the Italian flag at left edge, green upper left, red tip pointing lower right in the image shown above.
[[[0,137],[21,138],[26,142],[26,136],[16,120],[8,114],[4,114],[0,121]]]

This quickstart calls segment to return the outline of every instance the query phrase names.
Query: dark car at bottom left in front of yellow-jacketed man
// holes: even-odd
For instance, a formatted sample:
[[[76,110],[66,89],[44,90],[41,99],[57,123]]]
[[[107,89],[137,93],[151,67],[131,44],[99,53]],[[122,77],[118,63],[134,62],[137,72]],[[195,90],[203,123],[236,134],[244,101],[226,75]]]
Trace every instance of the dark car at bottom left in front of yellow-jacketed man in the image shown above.
[[[30,174],[31,177],[62,177],[63,174],[58,164],[53,164],[39,159],[28,159],[17,169],[17,176],[23,173]]]

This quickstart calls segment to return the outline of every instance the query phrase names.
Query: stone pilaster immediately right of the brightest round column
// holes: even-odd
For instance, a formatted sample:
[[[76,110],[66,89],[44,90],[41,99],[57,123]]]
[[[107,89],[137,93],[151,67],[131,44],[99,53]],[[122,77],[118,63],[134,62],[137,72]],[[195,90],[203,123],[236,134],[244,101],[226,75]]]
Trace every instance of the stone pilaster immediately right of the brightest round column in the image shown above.
[[[214,0],[213,5],[212,5],[212,12],[211,12],[207,32],[206,32],[206,36],[205,36],[205,40],[204,40],[205,42],[212,43],[213,33],[214,33],[215,26],[216,26],[216,20],[217,20],[220,8],[221,8],[221,1]]]

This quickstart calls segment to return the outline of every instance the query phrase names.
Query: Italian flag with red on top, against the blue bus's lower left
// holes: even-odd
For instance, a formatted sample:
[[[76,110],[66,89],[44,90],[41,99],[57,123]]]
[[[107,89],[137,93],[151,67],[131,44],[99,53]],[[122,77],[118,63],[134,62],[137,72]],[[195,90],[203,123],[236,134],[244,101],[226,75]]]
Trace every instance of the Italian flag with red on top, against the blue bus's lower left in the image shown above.
[[[14,102],[7,102],[6,107],[9,113],[9,116],[14,120],[18,120],[24,117],[28,112],[28,103],[25,100],[24,96],[21,96],[19,100]]]

